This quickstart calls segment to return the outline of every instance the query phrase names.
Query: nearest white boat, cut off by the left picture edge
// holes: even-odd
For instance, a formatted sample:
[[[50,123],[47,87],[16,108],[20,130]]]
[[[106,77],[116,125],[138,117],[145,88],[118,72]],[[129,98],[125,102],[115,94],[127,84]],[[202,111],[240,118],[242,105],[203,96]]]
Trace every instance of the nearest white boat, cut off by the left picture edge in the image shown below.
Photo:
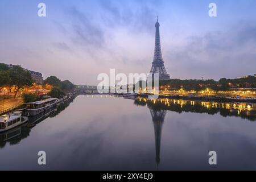
[[[27,117],[22,116],[22,112],[16,111],[11,114],[5,114],[0,117],[0,132],[13,129],[28,121]]]

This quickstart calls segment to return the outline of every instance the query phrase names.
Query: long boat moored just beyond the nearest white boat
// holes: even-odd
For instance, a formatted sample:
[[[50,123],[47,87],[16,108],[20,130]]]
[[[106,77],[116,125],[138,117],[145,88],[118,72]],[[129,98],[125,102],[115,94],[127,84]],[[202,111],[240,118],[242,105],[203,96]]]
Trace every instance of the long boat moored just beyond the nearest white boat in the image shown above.
[[[56,106],[58,103],[59,100],[57,98],[48,98],[47,100],[43,101],[25,103],[24,107],[27,108],[29,116],[34,116],[51,109],[51,107]]]

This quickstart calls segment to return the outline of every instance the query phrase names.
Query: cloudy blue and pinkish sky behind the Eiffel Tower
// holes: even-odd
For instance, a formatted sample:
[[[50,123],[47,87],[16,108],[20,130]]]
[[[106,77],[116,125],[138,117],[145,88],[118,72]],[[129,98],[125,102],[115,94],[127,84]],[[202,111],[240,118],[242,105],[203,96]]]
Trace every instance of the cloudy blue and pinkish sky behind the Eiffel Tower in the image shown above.
[[[38,4],[46,4],[46,17]],[[217,17],[209,17],[209,3]],[[148,73],[156,16],[171,78],[256,73],[255,0],[2,0],[0,63],[19,64],[75,84],[100,73]]]

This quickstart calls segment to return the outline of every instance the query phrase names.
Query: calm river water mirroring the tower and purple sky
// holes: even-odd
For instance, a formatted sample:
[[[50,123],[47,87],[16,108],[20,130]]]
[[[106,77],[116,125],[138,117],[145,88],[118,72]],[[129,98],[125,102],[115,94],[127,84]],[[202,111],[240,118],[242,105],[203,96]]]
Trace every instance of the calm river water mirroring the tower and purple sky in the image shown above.
[[[256,169],[255,105],[77,96],[0,134],[0,169]],[[46,165],[38,152],[46,152]],[[217,152],[217,165],[208,163]]]

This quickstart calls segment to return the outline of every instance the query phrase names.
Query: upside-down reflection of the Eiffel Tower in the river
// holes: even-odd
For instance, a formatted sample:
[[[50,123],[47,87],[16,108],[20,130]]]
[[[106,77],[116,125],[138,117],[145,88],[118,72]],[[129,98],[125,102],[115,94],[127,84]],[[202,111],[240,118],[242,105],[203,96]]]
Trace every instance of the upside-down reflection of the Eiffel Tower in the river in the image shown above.
[[[160,146],[161,146],[161,135],[162,135],[162,126],[164,122],[164,117],[166,117],[167,110],[156,110],[150,108],[150,113],[152,116],[152,121],[154,123],[155,130],[155,160],[156,164],[160,163]]]

